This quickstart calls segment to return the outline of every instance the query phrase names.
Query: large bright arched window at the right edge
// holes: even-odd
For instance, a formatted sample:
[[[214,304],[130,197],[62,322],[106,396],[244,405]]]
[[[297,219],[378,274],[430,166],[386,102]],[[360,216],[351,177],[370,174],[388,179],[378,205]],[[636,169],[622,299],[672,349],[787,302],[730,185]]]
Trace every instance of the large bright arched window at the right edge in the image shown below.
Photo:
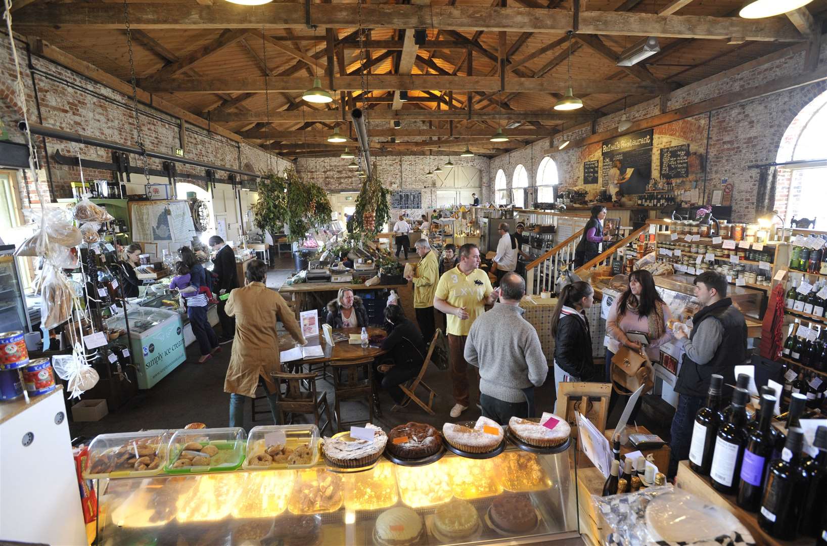
[[[827,226],[824,181],[827,179],[827,92],[821,93],[796,116],[787,127],[776,161],[800,161],[781,165],[777,171],[774,208],[790,227],[792,219],[807,218],[815,225]],[[803,226],[802,226],[803,227]]]

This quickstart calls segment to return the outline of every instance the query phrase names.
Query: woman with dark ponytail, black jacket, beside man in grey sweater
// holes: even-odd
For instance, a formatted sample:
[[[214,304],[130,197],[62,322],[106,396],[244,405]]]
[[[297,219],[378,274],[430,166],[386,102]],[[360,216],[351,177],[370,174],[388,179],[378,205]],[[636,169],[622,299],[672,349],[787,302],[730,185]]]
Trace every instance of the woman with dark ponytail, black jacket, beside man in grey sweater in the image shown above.
[[[593,381],[600,376],[591,352],[591,333],[586,309],[594,303],[595,290],[582,280],[563,287],[552,313],[554,338],[554,385],[568,381]],[[555,410],[555,413],[557,410]]]

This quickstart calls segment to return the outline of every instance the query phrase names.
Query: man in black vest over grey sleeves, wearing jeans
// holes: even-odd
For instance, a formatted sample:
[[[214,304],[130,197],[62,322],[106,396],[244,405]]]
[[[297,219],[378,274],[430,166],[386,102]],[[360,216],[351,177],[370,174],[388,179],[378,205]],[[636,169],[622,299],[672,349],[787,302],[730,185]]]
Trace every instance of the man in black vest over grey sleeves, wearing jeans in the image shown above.
[[[685,354],[675,384],[680,396],[672,419],[670,479],[677,473],[678,462],[689,457],[695,416],[704,405],[712,374],[724,376],[724,384],[733,385],[735,366],[747,359],[747,323],[726,297],[726,289],[726,277],[715,271],[696,276],[695,297],[704,308],[692,317],[688,339],[683,330],[675,333],[677,340],[684,340]]]

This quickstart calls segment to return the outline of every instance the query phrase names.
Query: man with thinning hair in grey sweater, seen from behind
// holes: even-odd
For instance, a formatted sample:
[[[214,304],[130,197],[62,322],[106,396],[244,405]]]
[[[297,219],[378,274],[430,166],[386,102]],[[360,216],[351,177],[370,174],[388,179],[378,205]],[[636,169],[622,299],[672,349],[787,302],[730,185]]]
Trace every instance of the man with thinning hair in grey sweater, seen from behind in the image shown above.
[[[519,307],[523,277],[504,275],[500,289],[500,303],[471,326],[465,358],[480,368],[482,414],[505,425],[512,416],[533,417],[534,387],[546,381],[548,362],[537,330]]]

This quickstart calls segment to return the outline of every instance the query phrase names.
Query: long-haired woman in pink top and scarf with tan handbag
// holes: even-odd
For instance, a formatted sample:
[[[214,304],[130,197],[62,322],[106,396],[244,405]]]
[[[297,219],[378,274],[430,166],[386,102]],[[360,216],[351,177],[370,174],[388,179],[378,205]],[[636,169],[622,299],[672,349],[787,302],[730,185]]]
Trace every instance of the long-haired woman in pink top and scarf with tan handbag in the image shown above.
[[[633,271],[629,275],[629,288],[618,299],[614,300],[606,319],[606,333],[609,343],[606,347],[606,381],[612,381],[612,357],[620,347],[629,347],[635,351],[641,348],[639,342],[634,342],[626,335],[627,332],[642,332],[649,338],[646,354],[652,362],[660,361],[660,347],[672,339],[667,323],[672,319],[667,304],[655,290],[655,280],[646,270]],[[614,405],[616,395],[612,391],[612,400],[609,402],[609,411]],[[637,414],[638,405],[632,415]]]

